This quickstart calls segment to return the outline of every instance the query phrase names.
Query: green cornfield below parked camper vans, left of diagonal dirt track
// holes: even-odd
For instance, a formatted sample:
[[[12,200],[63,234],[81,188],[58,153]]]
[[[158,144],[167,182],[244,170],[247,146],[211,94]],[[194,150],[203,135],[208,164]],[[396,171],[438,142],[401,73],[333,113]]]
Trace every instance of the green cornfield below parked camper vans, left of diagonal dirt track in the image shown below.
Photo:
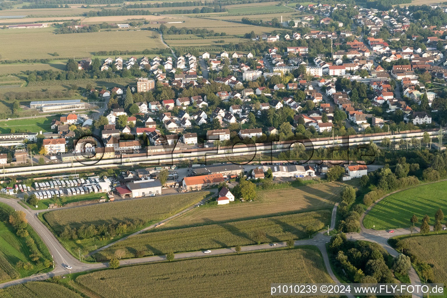
[[[56,233],[61,232],[66,225],[73,228],[80,227],[83,224],[102,225],[118,220],[150,222],[176,214],[178,211],[201,201],[208,194],[209,192],[197,192],[109,202],[50,211],[44,214],[44,218]]]

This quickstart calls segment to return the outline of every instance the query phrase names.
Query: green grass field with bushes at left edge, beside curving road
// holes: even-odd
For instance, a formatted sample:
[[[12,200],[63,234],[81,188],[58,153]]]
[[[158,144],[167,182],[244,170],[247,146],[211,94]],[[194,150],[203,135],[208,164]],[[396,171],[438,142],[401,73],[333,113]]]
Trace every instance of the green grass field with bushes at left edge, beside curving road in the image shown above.
[[[25,238],[19,237],[14,228],[8,223],[8,214],[13,213],[14,209],[3,203],[0,203],[0,209],[2,220],[0,221],[0,282],[18,277],[30,276],[31,274],[46,270],[42,263],[44,260],[51,260],[51,255],[45,244],[42,242],[42,239],[40,239],[30,225],[26,228],[29,236]],[[29,239],[34,240],[34,245],[27,245],[26,241]],[[30,255],[34,253],[33,249],[38,250],[38,254],[40,254],[39,263],[32,261],[30,258]],[[16,264],[18,261],[24,263],[30,262],[33,265],[33,268],[29,270],[17,268]],[[6,278],[6,276],[2,274],[2,272],[7,271],[8,264],[10,264],[9,269],[12,268],[16,272],[9,274],[13,278]]]

